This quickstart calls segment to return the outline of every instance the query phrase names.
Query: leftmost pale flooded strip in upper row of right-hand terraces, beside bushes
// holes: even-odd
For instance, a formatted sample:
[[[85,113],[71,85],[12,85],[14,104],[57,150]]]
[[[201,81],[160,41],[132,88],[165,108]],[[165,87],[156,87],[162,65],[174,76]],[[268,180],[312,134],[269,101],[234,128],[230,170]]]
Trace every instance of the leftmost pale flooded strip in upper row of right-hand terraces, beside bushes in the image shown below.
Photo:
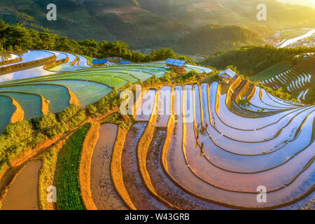
[[[155,105],[156,90],[148,90],[143,92],[141,100],[141,108],[137,111],[136,120],[148,121],[150,120],[153,107]]]

